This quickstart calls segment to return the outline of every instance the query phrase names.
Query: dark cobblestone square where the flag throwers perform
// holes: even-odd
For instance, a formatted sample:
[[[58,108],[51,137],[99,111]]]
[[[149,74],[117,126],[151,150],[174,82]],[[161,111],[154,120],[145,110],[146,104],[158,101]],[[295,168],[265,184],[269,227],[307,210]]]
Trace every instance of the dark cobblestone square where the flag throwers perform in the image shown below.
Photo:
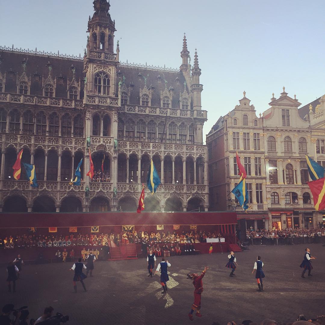
[[[85,279],[87,292],[73,293],[71,262],[24,266],[17,292],[8,293],[6,271],[2,266],[0,287],[1,306],[13,303],[28,305],[32,318],[42,314],[45,306],[54,312],[70,316],[75,324],[186,324],[191,323],[188,312],[193,303],[193,285],[186,279],[188,272],[210,269],[203,278],[203,317],[193,323],[212,324],[214,321],[237,324],[244,319],[261,321],[274,318],[285,322],[324,314],[325,247],[310,244],[313,277],[301,278],[299,265],[305,246],[253,246],[250,251],[236,253],[237,268],[233,278],[225,268],[227,253],[170,257],[168,294],[162,294],[159,277],[147,277],[144,258],[95,263],[94,277]],[[251,274],[256,256],[264,262],[265,292],[256,292],[257,284]],[[22,253],[23,257],[23,253]],[[13,256],[14,258],[14,256]],[[160,260],[160,259],[159,259]]]

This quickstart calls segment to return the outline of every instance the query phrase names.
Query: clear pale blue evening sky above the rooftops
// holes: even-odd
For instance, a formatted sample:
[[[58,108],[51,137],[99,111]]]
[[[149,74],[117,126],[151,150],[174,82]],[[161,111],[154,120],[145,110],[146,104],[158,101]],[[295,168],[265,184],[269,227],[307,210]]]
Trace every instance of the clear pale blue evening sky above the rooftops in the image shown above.
[[[202,69],[203,135],[243,97],[257,115],[282,87],[303,104],[325,93],[325,4],[315,1],[111,0],[120,61],[178,68],[183,34]],[[83,55],[92,0],[1,0],[0,45]],[[204,136],[205,138],[205,136]]]

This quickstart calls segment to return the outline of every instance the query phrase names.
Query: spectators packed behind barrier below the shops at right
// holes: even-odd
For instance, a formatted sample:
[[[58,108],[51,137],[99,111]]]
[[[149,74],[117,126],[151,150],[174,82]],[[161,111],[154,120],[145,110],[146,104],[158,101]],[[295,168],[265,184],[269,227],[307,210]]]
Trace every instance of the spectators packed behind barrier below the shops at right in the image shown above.
[[[294,245],[325,243],[325,228],[287,228],[266,230],[247,229],[246,238],[251,245]]]

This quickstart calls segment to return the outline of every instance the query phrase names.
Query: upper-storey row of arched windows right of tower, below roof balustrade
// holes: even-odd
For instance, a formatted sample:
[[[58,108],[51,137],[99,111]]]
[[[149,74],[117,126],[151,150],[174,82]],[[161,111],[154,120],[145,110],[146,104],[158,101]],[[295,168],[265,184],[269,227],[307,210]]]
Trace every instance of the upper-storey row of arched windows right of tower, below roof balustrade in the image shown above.
[[[145,122],[140,119],[135,122],[129,118],[127,120],[119,119],[118,121],[118,138],[123,139],[136,139],[141,140],[161,140],[162,138],[168,139],[171,142],[183,142],[188,141],[194,143],[195,140],[195,124],[189,125],[182,122],[176,124],[171,122],[165,124],[165,122],[156,123],[154,120]]]

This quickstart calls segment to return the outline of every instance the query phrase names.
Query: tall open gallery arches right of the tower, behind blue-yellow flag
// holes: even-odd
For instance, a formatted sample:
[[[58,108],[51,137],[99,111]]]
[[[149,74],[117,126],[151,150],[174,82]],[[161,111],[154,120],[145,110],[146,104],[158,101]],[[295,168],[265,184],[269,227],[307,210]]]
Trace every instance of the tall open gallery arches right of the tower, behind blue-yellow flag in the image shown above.
[[[136,154],[129,157],[125,153],[118,155],[118,183],[146,183],[150,166],[150,156],[144,154],[138,158]],[[175,157],[166,155],[164,159],[156,154],[152,157],[157,173],[164,184],[204,184],[203,157]]]

